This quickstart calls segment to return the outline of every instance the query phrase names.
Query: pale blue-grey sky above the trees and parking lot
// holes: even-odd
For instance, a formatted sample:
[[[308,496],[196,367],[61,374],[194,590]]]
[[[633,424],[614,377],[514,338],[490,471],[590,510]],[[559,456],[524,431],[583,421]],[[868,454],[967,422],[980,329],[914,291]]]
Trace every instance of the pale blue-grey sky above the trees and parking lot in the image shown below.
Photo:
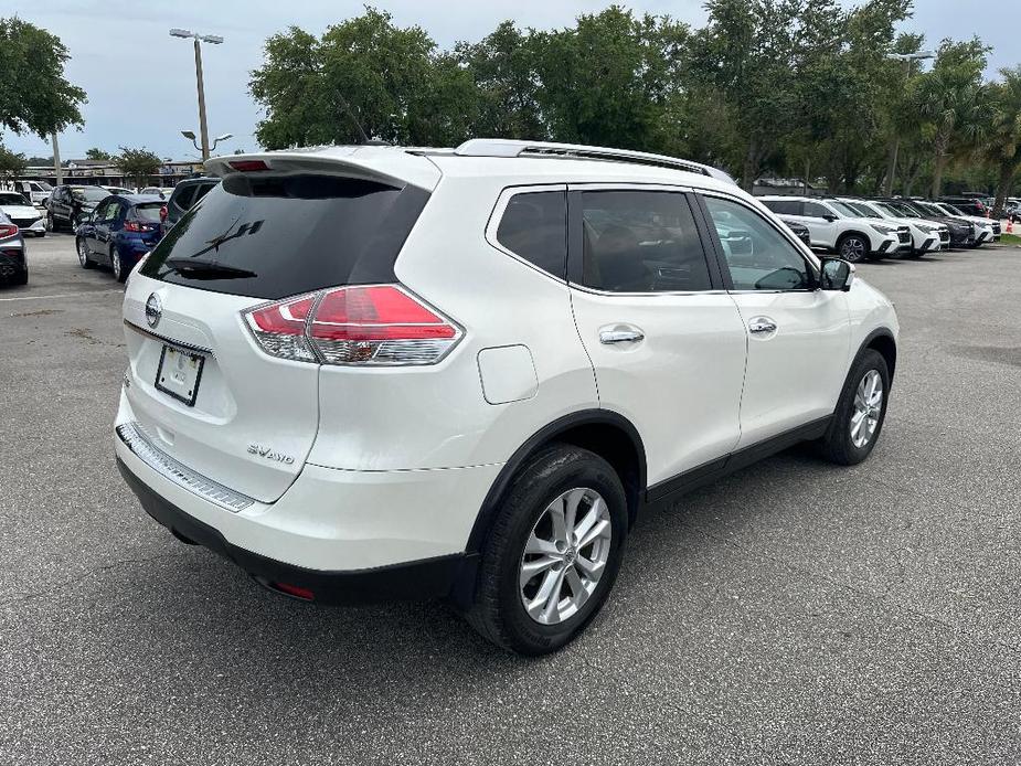
[[[853,4],[853,0],[844,0]],[[394,22],[418,24],[442,47],[477,41],[504,19],[519,26],[571,25],[579,13],[597,12],[611,0],[374,0]],[[692,25],[705,21],[703,0],[618,0],[636,11],[669,13]],[[1015,20],[1019,0],[915,0],[905,31],[922,32],[929,44],[943,38],[978,34],[995,46],[989,76],[1021,60]],[[263,62],[267,36],[297,24],[316,34],[362,12],[361,0],[4,0],[0,14],[18,15],[56,34],[71,53],[65,74],[88,94],[83,130],[60,137],[63,159],[85,156],[89,147],[116,152],[119,146],[151,149],[160,157],[192,159],[194,147],[181,130],[199,131],[194,52],[191,41],[171,38],[172,26],[224,38],[204,45],[205,99],[211,139],[234,138],[216,153],[254,151],[260,119],[247,92],[248,73]],[[2,73],[0,73],[2,76]],[[49,157],[50,142],[38,136],[0,132],[0,140],[26,156]]]

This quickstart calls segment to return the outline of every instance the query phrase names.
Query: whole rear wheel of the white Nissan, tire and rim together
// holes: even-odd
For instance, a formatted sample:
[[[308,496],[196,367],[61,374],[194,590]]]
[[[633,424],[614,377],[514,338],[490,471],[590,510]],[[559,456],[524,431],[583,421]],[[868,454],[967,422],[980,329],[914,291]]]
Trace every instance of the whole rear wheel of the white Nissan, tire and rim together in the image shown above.
[[[560,649],[609,594],[627,519],[606,460],[570,445],[539,453],[513,479],[486,541],[469,624],[523,655]]]

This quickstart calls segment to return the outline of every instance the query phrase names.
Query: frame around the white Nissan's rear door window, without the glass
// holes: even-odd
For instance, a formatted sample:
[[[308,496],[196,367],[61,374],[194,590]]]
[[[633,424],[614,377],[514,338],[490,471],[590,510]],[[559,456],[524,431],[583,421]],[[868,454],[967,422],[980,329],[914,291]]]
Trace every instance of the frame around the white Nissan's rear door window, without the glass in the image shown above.
[[[648,191],[648,192],[669,192],[679,194],[687,201],[694,219],[695,231],[702,246],[702,257],[705,259],[705,266],[709,270],[710,289],[708,290],[677,290],[662,292],[615,292],[611,290],[599,290],[585,285],[585,236],[583,226],[583,203],[582,194],[586,191]],[[635,182],[591,182],[591,183],[571,183],[567,187],[567,283],[573,289],[585,290],[597,295],[630,297],[635,296],[664,296],[664,295],[705,295],[708,292],[722,292],[727,289],[723,274],[720,272],[720,264],[714,257],[715,249],[711,241],[705,237],[705,222],[700,210],[701,201],[696,199],[691,187],[674,187],[663,183],[635,183]]]

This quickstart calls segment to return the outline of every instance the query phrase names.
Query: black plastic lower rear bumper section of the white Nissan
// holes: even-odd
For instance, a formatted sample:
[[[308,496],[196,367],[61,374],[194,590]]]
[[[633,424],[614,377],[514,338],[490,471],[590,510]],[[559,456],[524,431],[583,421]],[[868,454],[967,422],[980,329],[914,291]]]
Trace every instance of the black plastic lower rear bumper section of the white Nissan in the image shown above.
[[[320,604],[365,604],[382,600],[457,596],[458,584],[470,588],[478,554],[457,553],[358,571],[310,570],[286,564],[234,545],[214,526],[199,521],[156,492],[117,458],[117,468],[150,517],[185,542],[202,545],[232,561],[265,587],[291,597],[307,591]],[[289,586],[283,589],[280,585]]]

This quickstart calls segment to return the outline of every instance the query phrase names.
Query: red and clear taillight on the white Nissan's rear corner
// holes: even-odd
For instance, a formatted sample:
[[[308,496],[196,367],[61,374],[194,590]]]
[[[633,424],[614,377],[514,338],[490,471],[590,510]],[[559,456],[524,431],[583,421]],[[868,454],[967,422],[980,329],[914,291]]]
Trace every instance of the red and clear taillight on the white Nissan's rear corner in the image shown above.
[[[244,318],[266,353],[323,364],[433,364],[461,337],[397,285],[321,290],[248,309]]]

